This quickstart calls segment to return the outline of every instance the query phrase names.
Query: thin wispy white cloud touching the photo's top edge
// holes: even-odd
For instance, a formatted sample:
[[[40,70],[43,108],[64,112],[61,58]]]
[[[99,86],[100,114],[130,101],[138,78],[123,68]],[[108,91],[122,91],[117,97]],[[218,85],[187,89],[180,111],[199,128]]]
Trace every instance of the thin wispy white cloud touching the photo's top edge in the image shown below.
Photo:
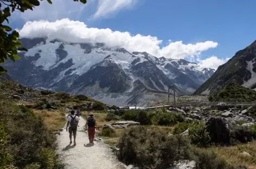
[[[135,5],[138,0],[98,0],[98,8],[93,18],[107,17],[116,14],[121,9],[130,8]]]

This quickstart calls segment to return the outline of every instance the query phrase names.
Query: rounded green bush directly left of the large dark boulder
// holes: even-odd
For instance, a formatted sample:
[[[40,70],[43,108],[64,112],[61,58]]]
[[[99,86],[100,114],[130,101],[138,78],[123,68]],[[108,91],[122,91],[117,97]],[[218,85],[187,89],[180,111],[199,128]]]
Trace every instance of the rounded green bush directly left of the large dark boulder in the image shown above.
[[[192,124],[189,127],[189,138],[192,144],[200,147],[206,147],[210,143],[210,136],[204,122]]]

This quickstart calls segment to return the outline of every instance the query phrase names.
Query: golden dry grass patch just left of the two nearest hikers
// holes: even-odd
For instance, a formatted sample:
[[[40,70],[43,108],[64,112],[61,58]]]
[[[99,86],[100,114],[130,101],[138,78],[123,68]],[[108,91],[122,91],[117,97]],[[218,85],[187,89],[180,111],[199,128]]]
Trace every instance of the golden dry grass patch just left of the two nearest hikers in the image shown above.
[[[42,116],[43,121],[50,129],[50,131],[59,131],[60,128],[66,123],[65,114],[61,110],[56,110],[53,112],[47,110],[33,110],[36,115]]]

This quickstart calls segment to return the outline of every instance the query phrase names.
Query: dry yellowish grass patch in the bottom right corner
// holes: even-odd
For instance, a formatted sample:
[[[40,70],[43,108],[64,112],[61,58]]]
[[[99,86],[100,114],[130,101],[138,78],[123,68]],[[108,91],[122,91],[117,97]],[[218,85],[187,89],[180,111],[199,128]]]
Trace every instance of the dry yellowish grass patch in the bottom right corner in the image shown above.
[[[232,165],[246,165],[250,169],[256,168],[256,141],[232,147],[211,147],[217,155]],[[242,155],[247,152],[251,156]]]

